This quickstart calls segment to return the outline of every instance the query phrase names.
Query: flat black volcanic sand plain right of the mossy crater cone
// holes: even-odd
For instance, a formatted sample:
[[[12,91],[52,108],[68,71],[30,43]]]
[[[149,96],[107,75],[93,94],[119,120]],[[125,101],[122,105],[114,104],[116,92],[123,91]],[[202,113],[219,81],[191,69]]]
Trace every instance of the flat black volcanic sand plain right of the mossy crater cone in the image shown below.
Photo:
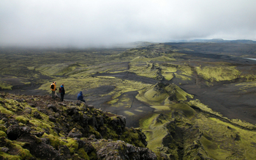
[[[246,89],[246,92],[242,92],[234,84],[214,87],[184,85],[181,88],[228,119],[241,119],[256,124],[256,87]]]

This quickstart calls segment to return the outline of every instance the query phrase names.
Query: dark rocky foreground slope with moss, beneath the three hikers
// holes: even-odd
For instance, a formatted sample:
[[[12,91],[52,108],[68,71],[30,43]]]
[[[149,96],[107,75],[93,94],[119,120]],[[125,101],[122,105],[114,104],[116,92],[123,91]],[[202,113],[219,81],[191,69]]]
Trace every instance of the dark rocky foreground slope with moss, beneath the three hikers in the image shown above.
[[[157,159],[124,116],[50,97],[0,101],[0,159]]]

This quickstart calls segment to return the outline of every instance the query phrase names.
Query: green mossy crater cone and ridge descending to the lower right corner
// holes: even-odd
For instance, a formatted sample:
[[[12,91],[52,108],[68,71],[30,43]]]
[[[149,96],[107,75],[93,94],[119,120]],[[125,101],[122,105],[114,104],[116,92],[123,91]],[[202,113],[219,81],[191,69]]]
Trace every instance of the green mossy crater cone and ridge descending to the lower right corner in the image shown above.
[[[169,159],[256,159],[256,126],[227,119],[175,84],[157,84],[138,98],[155,108],[140,119],[148,148]]]

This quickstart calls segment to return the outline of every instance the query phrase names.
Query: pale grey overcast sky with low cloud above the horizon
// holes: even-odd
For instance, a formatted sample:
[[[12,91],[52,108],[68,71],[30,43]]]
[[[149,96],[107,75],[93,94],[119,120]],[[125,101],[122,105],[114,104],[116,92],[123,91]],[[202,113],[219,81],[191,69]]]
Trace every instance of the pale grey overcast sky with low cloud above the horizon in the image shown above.
[[[256,40],[256,0],[0,0],[1,46]]]

